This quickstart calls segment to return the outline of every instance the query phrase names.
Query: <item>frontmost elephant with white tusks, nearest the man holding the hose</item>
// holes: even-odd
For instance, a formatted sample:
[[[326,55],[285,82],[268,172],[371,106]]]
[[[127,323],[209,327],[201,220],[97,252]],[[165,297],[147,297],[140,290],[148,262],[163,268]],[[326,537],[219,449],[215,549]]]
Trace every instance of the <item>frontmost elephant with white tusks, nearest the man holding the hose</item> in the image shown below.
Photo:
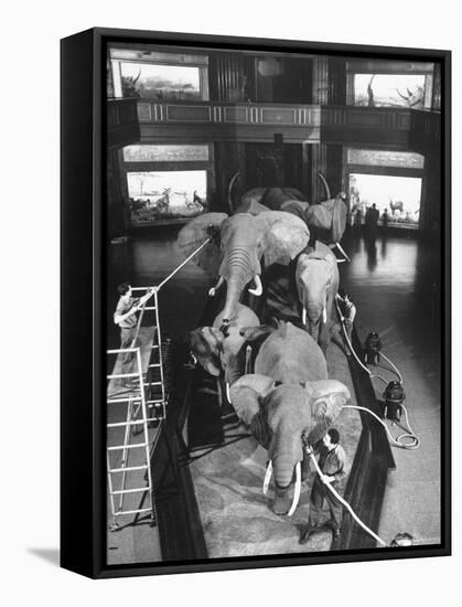
[[[292,514],[301,489],[302,437],[314,445],[326,433],[350,398],[347,387],[327,379],[324,355],[303,329],[278,321],[276,329],[253,328],[243,333],[251,341],[270,331],[262,343],[255,372],[243,375],[229,390],[238,417],[268,450],[264,491],[275,472],[276,496],[272,510]],[[289,490],[296,472],[296,489],[290,505]]]

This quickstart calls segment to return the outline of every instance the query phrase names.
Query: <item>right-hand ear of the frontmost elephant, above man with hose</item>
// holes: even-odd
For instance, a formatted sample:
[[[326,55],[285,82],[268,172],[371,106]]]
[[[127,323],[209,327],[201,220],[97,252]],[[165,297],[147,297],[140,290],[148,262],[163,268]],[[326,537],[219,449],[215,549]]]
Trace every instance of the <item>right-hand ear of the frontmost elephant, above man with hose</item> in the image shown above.
[[[350,400],[350,391],[345,384],[336,380],[307,382],[305,390],[314,423],[308,435],[308,441],[315,445],[342,413],[343,405]]]

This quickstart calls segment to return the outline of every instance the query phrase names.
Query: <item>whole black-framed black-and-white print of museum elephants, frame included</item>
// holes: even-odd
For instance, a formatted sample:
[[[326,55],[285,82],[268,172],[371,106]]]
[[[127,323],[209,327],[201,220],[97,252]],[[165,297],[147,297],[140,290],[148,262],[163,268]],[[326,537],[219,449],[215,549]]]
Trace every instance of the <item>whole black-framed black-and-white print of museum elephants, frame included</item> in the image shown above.
[[[63,567],[450,554],[449,125],[448,51],[62,41]]]

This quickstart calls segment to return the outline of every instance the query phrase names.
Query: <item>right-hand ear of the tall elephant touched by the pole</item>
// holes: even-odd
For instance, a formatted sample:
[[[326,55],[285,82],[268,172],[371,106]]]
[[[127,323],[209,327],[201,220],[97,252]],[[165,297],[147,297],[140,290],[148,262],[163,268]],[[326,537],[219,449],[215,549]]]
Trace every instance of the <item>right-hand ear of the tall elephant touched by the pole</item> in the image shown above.
[[[307,224],[284,211],[267,211],[260,213],[259,219],[267,224],[265,263],[268,266],[272,264],[288,266],[308,245],[310,231]]]

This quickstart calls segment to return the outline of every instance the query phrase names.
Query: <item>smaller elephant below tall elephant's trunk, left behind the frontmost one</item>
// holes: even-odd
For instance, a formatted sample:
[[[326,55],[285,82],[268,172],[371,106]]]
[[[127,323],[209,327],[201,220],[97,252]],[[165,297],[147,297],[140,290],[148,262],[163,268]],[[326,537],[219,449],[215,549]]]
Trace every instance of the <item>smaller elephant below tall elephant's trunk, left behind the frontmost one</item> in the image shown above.
[[[191,331],[191,351],[207,373],[217,377],[223,371],[226,384],[233,384],[245,371],[245,353],[243,356],[241,350],[246,339],[240,330],[258,327],[260,321],[250,308],[238,303],[236,320],[223,332],[219,330],[223,313],[222,310],[217,315],[213,327],[201,327]]]

